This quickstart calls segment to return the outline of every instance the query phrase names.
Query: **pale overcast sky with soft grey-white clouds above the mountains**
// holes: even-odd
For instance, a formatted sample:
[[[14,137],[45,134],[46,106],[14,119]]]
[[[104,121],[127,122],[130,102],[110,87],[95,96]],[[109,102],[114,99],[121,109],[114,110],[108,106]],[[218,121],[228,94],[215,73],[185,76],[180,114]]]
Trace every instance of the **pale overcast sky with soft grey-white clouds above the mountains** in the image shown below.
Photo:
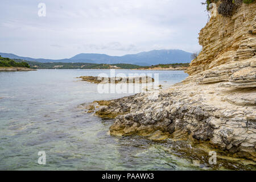
[[[1,0],[0,52],[64,59],[79,53],[199,51],[198,34],[208,20],[201,2]]]

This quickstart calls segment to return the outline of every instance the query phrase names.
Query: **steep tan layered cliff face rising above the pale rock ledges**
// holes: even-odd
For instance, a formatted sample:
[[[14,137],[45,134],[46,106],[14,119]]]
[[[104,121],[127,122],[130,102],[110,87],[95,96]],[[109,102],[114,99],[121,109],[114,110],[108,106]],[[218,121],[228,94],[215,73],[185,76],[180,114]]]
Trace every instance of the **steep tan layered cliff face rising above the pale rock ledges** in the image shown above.
[[[231,18],[213,14],[200,31],[199,43],[203,49],[186,71],[189,75],[229,62],[256,59],[256,3],[243,3]]]

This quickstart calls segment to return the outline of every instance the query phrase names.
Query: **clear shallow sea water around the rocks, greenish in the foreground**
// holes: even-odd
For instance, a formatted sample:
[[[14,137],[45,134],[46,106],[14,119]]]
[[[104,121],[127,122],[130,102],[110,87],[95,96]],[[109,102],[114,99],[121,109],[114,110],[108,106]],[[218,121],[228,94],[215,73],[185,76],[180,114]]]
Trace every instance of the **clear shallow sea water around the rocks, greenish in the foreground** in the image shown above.
[[[75,78],[102,72],[110,73],[109,70],[0,72],[0,169],[209,169],[207,164],[199,166],[193,162],[196,158],[184,158],[176,151],[186,143],[112,137],[108,131],[113,121],[80,110],[83,103],[128,95],[98,94],[96,84]],[[115,72],[159,73],[160,84],[165,87],[187,77],[183,71]],[[46,165],[38,164],[39,151],[46,151]],[[232,169],[239,168],[233,166]]]

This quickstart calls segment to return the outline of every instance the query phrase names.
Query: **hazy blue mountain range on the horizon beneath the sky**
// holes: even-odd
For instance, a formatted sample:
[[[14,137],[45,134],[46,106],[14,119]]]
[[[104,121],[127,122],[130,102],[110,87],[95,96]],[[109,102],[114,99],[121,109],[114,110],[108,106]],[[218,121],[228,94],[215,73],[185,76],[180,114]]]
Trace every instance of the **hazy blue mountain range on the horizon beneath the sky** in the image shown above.
[[[96,64],[135,64],[135,65],[155,65],[155,64],[172,64],[172,63],[190,63],[190,52],[185,52],[178,49],[170,50],[154,50],[149,52],[140,52],[132,55],[124,56],[109,56],[99,53],[80,53],[70,59],[35,59],[31,57],[21,57],[12,53],[1,53],[2,57],[10,59],[22,59],[27,61],[38,61],[41,63],[96,63]]]

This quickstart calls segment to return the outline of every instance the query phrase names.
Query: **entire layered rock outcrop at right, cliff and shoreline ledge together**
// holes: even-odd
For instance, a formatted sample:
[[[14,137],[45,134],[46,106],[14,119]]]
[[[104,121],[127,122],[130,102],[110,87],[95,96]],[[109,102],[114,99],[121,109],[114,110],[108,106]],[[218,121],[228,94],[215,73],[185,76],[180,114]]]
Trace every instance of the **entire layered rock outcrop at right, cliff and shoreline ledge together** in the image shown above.
[[[212,14],[203,46],[170,89],[96,101],[96,115],[114,118],[110,134],[203,142],[218,153],[256,165],[256,3],[231,18]],[[94,109],[91,110],[94,112]]]

